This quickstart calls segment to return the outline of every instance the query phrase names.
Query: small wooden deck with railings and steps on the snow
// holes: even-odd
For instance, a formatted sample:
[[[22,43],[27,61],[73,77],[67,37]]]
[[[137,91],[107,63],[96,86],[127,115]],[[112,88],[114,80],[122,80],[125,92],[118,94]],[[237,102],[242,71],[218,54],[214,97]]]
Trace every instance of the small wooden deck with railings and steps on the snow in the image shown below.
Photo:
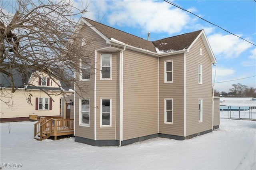
[[[41,117],[40,121],[34,124],[34,138],[44,140],[50,136],[74,134],[74,119],[62,119],[62,117]]]

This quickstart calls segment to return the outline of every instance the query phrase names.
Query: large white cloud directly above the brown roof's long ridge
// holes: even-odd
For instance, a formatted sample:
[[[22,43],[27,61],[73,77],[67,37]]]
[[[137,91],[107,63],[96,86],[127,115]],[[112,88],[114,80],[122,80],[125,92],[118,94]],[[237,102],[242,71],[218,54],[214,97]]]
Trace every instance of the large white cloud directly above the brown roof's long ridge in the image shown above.
[[[194,26],[195,21],[187,12],[163,1],[90,1],[88,10],[90,14],[86,15],[90,15],[90,19],[97,15],[103,17],[108,12],[110,26],[137,27],[156,33],[178,33],[188,25]]]

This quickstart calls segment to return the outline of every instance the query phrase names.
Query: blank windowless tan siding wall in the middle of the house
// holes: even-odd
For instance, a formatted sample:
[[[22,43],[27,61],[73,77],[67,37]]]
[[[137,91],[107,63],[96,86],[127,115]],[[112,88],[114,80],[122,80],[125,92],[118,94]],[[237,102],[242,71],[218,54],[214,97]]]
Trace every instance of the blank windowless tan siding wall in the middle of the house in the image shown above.
[[[158,133],[158,58],[126,49],[123,140]]]

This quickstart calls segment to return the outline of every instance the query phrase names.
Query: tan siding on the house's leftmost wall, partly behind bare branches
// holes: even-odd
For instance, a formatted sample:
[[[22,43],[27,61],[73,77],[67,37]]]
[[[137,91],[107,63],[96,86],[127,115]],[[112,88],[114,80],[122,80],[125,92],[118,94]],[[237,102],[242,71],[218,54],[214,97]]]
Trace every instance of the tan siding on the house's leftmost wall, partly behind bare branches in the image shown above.
[[[90,80],[89,81],[80,81],[76,85],[76,101],[75,101],[75,135],[83,138],[90,138],[94,140],[94,69],[95,69],[95,49],[100,49],[107,47],[106,41],[100,37],[96,32],[94,32],[90,27],[83,26],[80,30],[82,37],[86,38],[86,45],[84,48],[90,53]],[[77,39],[78,44],[82,43],[81,39]],[[97,69],[99,69],[97,65]],[[79,79],[79,71],[76,71],[76,79]],[[78,88],[81,88],[82,91],[79,91]],[[80,98],[89,98],[90,99],[90,127],[84,127],[79,125],[79,100]]]

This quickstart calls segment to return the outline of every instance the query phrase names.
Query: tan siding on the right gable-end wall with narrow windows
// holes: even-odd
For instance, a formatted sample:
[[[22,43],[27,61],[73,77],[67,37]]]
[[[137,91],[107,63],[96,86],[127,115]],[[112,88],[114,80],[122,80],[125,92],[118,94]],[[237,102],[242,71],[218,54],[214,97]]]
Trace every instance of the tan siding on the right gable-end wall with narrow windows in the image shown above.
[[[198,84],[198,63],[202,64],[202,84]],[[198,122],[198,99],[203,99],[201,123]],[[200,37],[186,53],[186,136],[210,130],[211,125],[212,63]]]

